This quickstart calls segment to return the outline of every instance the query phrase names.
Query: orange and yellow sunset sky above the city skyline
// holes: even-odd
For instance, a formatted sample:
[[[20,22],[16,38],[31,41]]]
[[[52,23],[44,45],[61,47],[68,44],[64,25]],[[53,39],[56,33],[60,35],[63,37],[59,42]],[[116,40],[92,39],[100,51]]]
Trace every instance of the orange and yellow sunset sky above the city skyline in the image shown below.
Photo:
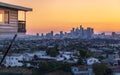
[[[27,13],[27,34],[73,27],[92,27],[95,32],[120,32],[120,0],[0,0],[33,8]],[[23,16],[20,13],[20,16]]]

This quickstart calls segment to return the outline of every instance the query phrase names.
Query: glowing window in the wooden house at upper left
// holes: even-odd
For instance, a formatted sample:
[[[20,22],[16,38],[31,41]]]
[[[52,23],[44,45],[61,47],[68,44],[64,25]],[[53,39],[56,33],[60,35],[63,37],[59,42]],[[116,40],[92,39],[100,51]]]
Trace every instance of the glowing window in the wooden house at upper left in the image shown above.
[[[9,11],[0,10],[0,23],[9,24]]]

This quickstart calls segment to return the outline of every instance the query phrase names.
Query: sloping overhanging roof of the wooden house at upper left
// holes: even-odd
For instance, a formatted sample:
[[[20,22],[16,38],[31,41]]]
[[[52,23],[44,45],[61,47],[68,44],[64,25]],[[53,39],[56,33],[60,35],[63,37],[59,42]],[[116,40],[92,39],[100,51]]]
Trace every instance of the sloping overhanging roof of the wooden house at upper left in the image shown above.
[[[32,11],[32,8],[26,8],[26,7],[12,5],[12,4],[3,3],[3,2],[0,2],[0,7],[22,10],[22,11]]]

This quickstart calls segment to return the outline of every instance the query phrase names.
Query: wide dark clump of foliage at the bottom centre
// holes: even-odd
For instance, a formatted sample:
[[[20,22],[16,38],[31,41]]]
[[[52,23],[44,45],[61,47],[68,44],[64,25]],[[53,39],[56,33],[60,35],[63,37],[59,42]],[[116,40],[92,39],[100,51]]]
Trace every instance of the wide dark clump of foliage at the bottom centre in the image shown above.
[[[39,69],[36,69],[34,72],[41,74],[47,73],[55,70],[71,71],[71,64],[61,63],[61,62],[40,62]]]

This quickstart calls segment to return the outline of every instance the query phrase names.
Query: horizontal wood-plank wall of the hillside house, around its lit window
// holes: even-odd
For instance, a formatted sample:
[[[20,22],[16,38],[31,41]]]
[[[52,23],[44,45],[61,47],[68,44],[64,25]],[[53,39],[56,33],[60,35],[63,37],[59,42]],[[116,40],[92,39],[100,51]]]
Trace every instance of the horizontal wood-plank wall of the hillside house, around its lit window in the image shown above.
[[[18,30],[18,10],[2,8],[0,10],[9,11],[9,24],[0,23],[0,34],[17,33]]]

